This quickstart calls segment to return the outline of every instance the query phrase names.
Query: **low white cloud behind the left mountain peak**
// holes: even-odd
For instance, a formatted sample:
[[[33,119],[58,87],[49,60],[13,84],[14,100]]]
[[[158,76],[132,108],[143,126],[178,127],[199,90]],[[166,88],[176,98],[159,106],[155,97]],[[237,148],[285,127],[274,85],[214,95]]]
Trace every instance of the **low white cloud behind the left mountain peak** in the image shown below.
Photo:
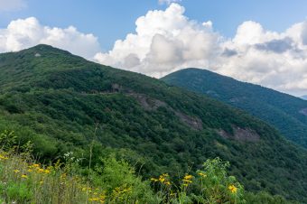
[[[79,32],[75,27],[57,28],[43,26],[34,18],[12,21],[0,29],[0,52],[20,51],[44,43],[71,51],[85,58],[92,58],[100,51],[97,37]]]

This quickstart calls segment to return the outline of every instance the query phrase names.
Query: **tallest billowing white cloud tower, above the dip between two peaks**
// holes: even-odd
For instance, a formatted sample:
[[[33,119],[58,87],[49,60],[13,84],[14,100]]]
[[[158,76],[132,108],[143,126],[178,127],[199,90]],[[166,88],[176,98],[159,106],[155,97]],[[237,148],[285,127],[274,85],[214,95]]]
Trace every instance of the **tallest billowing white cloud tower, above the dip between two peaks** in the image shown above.
[[[135,33],[116,41],[112,51],[98,53],[101,63],[142,72],[154,77],[177,70],[183,65],[206,65],[220,52],[219,34],[212,23],[189,20],[181,5],[172,4],[165,11],[150,11],[135,22]],[[126,64],[133,54],[135,66]],[[129,61],[129,60],[128,60]]]

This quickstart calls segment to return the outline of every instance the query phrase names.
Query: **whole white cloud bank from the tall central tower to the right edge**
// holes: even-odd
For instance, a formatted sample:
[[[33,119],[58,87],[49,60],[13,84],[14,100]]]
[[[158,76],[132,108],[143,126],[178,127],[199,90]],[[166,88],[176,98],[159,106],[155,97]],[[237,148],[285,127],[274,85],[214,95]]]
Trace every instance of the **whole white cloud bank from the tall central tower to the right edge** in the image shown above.
[[[210,21],[193,21],[183,6],[171,4],[149,11],[135,25],[135,33],[95,60],[156,78],[197,67],[294,95],[307,93],[307,22],[272,32],[248,21],[228,39]]]

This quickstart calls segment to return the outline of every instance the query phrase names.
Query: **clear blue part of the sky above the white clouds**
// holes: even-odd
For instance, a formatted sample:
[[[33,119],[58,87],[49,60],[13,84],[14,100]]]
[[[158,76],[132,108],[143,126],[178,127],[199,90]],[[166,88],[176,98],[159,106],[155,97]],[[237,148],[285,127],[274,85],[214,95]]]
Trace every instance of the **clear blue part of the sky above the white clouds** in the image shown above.
[[[135,31],[135,20],[149,10],[165,9],[158,0],[26,0],[26,8],[0,12],[0,27],[17,18],[34,16],[42,24],[56,27],[74,25],[80,32],[98,36],[103,50],[117,39]],[[43,2],[43,3],[42,3]],[[185,15],[199,22],[212,21],[216,31],[232,37],[237,26],[252,20],[266,29],[282,32],[307,17],[303,0],[182,0]]]

